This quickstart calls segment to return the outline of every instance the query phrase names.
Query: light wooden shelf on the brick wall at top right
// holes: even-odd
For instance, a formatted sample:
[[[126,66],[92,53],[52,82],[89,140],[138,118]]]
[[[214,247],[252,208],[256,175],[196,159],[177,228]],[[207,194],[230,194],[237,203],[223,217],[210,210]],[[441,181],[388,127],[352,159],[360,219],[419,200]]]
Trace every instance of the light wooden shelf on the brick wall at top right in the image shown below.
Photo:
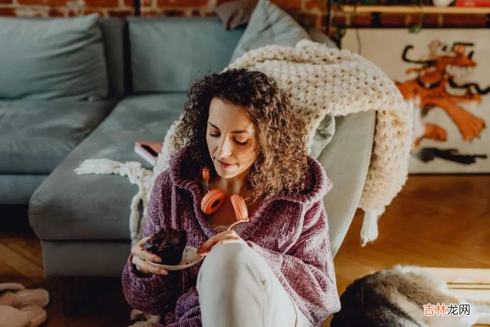
[[[345,13],[390,13],[390,14],[490,14],[490,7],[436,7],[436,6],[350,6],[342,5]]]

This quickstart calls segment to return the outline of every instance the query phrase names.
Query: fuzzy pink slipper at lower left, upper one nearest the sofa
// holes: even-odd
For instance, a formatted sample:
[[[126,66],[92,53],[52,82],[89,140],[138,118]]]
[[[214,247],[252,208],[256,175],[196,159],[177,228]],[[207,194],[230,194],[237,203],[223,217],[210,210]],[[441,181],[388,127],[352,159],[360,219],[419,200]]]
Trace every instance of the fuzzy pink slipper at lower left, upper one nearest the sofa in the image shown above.
[[[10,305],[14,308],[22,308],[27,305],[46,306],[49,303],[48,291],[38,288],[33,290],[19,288],[21,284],[0,284],[0,305]],[[24,286],[22,286],[24,287]],[[5,290],[17,290],[9,292]],[[2,292],[3,291],[3,292]]]

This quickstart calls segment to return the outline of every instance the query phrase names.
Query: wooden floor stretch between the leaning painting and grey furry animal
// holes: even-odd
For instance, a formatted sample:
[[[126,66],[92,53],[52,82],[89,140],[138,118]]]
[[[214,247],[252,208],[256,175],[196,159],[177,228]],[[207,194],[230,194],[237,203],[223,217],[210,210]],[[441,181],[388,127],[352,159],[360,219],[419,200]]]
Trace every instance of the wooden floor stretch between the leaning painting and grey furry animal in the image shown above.
[[[395,264],[490,268],[490,176],[410,176],[365,248],[361,224],[358,211],[335,258],[339,292]]]

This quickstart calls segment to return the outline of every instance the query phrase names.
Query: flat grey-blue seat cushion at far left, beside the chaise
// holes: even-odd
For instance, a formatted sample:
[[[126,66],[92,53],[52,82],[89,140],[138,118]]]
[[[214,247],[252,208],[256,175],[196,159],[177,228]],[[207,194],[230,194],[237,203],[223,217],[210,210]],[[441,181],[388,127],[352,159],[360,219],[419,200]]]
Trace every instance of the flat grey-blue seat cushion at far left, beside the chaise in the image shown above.
[[[49,174],[113,101],[0,101],[0,174]]]

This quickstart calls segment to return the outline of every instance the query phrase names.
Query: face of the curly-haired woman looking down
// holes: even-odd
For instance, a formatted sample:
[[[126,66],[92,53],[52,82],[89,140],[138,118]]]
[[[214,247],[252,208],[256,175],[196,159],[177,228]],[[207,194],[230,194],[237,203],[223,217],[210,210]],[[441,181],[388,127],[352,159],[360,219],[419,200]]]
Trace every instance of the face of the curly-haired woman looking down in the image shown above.
[[[209,106],[206,142],[221,177],[244,173],[255,161],[255,129],[243,106],[214,98]]]

